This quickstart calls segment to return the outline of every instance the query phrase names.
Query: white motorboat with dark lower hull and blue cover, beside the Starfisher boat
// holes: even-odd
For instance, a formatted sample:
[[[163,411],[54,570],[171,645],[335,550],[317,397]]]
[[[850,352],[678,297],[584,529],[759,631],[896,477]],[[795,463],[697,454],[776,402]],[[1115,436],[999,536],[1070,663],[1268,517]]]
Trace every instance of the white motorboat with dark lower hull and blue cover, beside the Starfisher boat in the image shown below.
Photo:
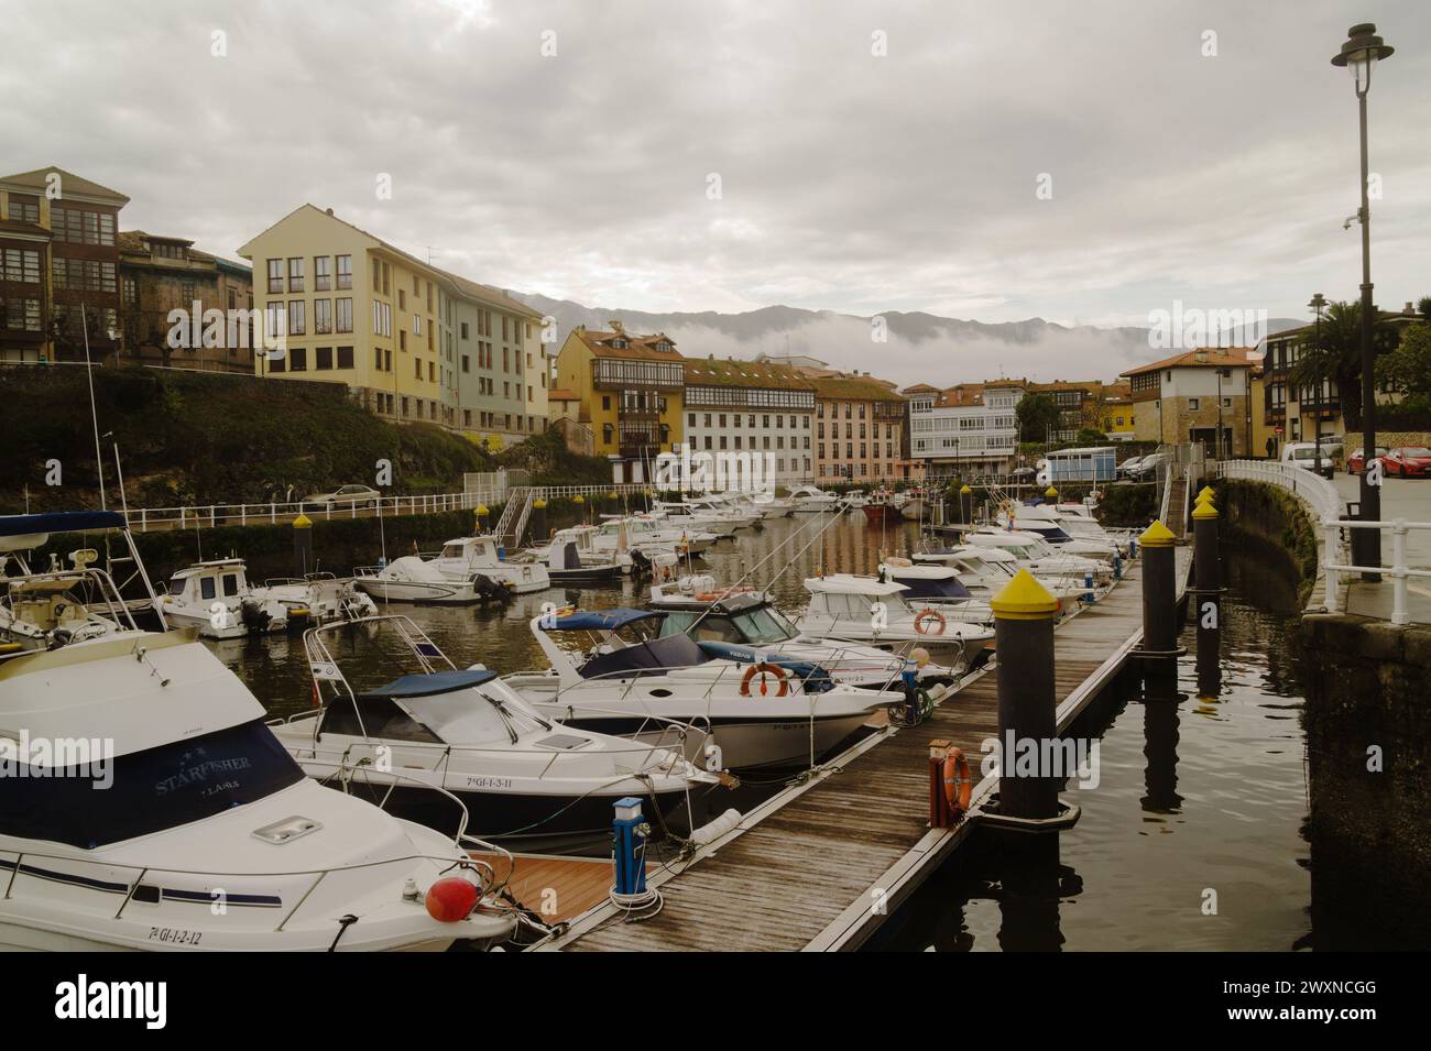
[[[402,673],[358,682],[361,672],[328,645],[341,625],[312,629],[303,645],[322,708],[270,725],[305,774],[385,799],[389,814],[452,829],[456,796],[475,835],[560,851],[610,841],[612,804],[624,796],[688,832],[691,792],[720,784],[681,758],[678,725],[670,748],[554,725],[497,672],[459,671],[406,616],[363,628],[371,643],[401,653],[382,678]]]

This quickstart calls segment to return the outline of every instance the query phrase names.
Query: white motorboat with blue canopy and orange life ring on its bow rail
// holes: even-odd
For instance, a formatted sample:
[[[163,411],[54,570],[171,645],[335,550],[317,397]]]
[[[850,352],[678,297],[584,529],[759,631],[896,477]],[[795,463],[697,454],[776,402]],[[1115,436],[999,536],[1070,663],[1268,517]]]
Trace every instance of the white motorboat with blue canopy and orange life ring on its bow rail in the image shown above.
[[[660,638],[648,609],[567,612],[531,621],[551,663],[504,676],[532,708],[568,726],[664,744],[670,722],[704,729],[687,756],[705,769],[817,761],[902,691],[856,689],[787,659],[716,658],[688,635]],[[575,639],[575,642],[571,642]]]

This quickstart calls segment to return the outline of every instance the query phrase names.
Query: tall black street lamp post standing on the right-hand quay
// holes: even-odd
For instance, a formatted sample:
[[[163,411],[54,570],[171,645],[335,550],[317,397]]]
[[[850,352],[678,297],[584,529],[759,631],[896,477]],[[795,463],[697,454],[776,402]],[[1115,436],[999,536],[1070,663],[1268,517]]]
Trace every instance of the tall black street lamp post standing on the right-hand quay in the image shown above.
[[[1372,310],[1371,302],[1371,204],[1367,194],[1367,92],[1371,89],[1371,71],[1382,59],[1390,59],[1391,46],[1377,36],[1377,27],[1364,21],[1347,30],[1347,41],[1341,51],[1332,56],[1332,66],[1351,70],[1357,89],[1357,107],[1361,116],[1361,449],[1364,463],[1377,450],[1377,383],[1375,352],[1371,346]],[[1381,479],[1378,478],[1377,482]],[[1361,472],[1361,520],[1375,522],[1381,518],[1381,488],[1372,485],[1371,470]],[[1381,565],[1381,532],[1377,529],[1354,529],[1352,552],[1359,565]],[[1379,573],[1362,573],[1364,579],[1378,581]]]

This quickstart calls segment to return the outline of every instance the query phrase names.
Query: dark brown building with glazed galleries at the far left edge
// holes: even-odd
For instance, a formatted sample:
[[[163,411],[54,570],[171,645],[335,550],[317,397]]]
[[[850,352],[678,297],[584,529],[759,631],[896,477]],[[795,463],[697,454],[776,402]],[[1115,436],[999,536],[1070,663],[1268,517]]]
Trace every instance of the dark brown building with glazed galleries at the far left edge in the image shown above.
[[[123,193],[59,167],[0,176],[0,363],[103,362],[120,346]]]

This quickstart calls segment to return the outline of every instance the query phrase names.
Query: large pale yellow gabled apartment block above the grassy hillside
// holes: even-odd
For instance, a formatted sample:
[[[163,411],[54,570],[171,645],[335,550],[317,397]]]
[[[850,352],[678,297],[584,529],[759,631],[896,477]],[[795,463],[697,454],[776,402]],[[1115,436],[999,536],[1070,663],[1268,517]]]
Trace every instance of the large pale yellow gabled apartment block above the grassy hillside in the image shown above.
[[[239,255],[253,262],[266,336],[288,340],[285,353],[258,356],[258,375],[343,383],[379,416],[488,442],[545,429],[535,310],[312,204]]]

